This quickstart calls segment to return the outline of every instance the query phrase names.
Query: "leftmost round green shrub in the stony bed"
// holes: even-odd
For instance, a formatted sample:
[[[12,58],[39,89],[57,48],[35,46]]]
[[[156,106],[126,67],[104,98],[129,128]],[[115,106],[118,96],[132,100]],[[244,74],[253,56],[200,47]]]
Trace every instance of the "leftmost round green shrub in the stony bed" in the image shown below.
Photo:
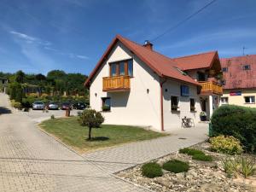
[[[142,167],[142,173],[143,176],[149,178],[160,177],[163,175],[160,165],[155,162],[144,164]]]

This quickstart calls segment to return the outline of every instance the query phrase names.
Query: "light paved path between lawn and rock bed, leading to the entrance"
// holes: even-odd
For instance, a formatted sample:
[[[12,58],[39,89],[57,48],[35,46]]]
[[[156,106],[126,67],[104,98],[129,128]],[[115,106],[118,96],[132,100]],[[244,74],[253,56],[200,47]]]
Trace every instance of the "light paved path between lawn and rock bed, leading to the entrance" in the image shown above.
[[[108,148],[84,154],[86,160],[94,160],[104,166],[106,172],[114,173],[171,154],[179,148],[189,147],[207,139],[207,123],[200,123],[193,128],[180,128],[172,131],[170,137],[160,137],[139,143]]]

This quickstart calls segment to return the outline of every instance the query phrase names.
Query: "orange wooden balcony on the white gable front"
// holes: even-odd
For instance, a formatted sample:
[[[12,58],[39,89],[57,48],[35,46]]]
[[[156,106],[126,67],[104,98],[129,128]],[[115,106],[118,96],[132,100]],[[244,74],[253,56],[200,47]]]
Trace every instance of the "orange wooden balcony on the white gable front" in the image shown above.
[[[118,92],[130,90],[130,76],[114,76],[102,79],[102,87],[105,92]]]

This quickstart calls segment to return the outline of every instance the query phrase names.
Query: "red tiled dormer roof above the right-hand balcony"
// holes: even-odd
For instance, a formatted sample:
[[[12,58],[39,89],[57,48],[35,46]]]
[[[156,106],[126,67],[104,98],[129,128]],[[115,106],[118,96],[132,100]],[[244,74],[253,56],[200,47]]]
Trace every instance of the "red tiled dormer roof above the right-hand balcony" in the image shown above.
[[[177,63],[177,67],[181,70],[191,70],[198,68],[209,68],[212,66],[214,58],[218,56],[217,51],[207,53],[188,55],[183,57],[174,58],[173,61]]]

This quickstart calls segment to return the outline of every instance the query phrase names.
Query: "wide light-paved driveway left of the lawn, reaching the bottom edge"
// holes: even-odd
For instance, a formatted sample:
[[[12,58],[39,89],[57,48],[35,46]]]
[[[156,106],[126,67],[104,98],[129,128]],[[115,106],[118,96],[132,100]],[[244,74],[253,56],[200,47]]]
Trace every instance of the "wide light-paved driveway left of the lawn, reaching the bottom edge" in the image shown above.
[[[9,108],[7,96],[1,93],[0,106]],[[39,131],[24,113],[6,113],[0,115],[0,191],[145,190],[84,160]]]

